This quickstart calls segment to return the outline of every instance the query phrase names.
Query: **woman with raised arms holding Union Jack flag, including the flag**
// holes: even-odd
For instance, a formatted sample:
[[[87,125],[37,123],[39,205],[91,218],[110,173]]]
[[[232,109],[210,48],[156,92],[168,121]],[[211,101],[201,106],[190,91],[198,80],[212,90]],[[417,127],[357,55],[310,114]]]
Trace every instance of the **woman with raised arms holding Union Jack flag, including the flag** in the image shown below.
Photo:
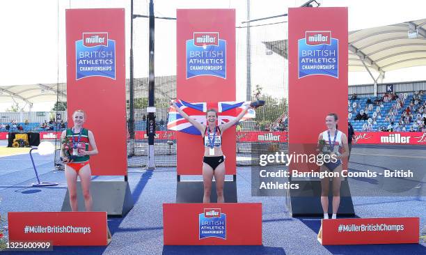
[[[248,109],[251,108],[250,102],[237,103],[239,105],[235,105],[235,102],[233,102],[234,104],[226,104],[226,102],[219,103],[218,107],[220,112],[223,112],[223,108],[229,107],[229,110],[240,109],[239,114],[235,117],[230,116],[220,119],[218,118],[218,111],[216,111],[216,109],[209,107],[208,110],[206,110],[208,107],[207,103],[191,104],[183,100],[177,100],[177,102],[173,101],[171,104],[175,111],[177,111],[177,113],[175,113],[175,119],[173,119],[173,111],[169,113],[169,129],[185,130],[183,132],[201,134],[203,137],[203,144],[205,147],[203,157],[204,203],[210,203],[213,176],[214,180],[216,180],[217,202],[223,203],[225,201],[223,198],[225,156],[221,148],[222,133],[240,121],[246,115]],[[191,116],[189,116],[187,112],[189,112]],[[184,121],[180,120],[180,118],[184,118]],[[180,126],[182,123],[178,123],[178,121],[184,124],[183,127]],[[219,125],[217,124],[218,121]]]

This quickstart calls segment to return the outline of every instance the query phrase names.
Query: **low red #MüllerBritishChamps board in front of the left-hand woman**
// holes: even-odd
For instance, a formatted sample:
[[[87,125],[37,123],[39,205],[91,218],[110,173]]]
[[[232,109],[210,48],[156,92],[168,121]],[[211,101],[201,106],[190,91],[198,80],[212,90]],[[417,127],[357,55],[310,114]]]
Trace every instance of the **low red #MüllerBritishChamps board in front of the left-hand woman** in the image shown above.
[[[8,212],[9,241],[54,246],[108,245],[107,212]]]

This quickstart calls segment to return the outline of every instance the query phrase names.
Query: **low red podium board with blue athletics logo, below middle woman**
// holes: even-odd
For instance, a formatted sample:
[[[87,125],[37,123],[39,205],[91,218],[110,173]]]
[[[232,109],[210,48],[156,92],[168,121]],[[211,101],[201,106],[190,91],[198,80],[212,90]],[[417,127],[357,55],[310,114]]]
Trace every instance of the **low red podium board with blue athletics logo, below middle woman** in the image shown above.
[[[262,245],[262,203],[163,203],[164,245]]]

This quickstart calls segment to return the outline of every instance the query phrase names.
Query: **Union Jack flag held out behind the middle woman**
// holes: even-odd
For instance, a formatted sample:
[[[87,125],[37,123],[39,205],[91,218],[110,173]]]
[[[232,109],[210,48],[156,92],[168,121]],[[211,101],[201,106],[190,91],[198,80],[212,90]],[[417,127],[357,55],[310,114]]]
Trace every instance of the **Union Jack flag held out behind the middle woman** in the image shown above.
[[[228,123],[237,118],[239,113],[245,109],[248,102],[185,102],[184,100],[176,100],[176,105],[182,109],[186,114],[191,116],[194,120],[207,125],[205,113],[207,109],[216,109],[218,115],[217,125]],[[242,121],[247,118],[255,118],[255,111],[248,109],[247,113],[241,119]],[[183,118],[174,107],[168,110],[168,123],[169,130],[176,130],[187,134],[200,134],[200,131],[194,127],[189,121]]]

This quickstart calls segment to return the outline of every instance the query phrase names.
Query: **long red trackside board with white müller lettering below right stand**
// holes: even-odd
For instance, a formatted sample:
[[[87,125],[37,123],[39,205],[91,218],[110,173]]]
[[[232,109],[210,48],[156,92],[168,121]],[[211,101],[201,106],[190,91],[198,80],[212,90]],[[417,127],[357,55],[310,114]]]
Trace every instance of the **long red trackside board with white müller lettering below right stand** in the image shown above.
[[[426,145],[423,132],[355,132],[356,144]]]

